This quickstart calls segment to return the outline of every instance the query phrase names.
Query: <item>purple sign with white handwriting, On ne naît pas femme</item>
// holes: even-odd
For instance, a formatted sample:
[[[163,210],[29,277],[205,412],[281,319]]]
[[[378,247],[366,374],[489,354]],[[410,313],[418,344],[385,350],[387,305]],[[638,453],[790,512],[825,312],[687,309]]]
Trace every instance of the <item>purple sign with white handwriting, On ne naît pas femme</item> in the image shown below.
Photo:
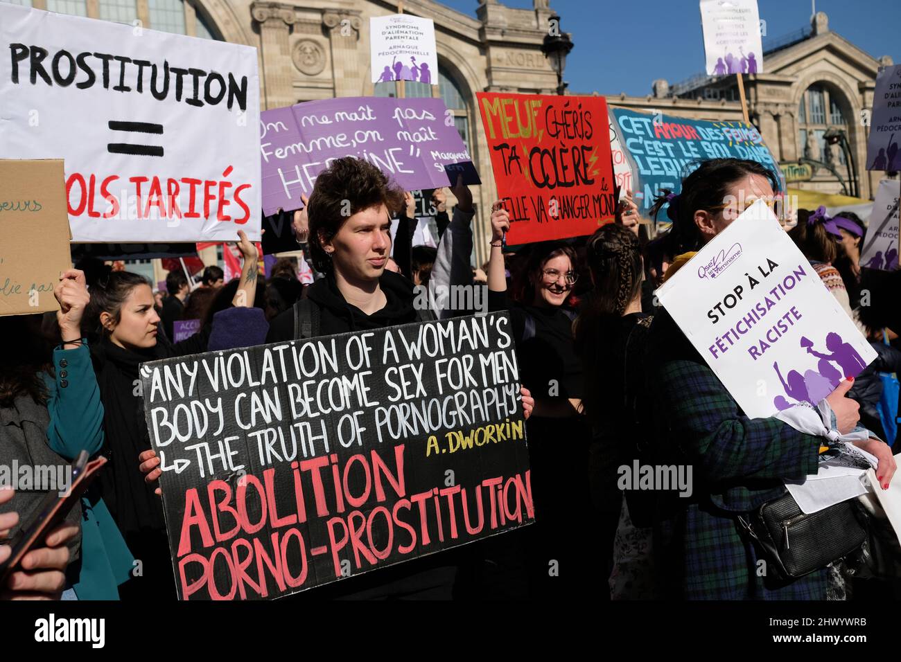
[[[449,172],[480,184],[441,99],[355,96],[260,114],[263,213],[298,209],[333,159],[358,157],[407,191],[451,186]],[[451,118],[452,119],[452,118]],[[458,165],[460,164],[460,165]]]

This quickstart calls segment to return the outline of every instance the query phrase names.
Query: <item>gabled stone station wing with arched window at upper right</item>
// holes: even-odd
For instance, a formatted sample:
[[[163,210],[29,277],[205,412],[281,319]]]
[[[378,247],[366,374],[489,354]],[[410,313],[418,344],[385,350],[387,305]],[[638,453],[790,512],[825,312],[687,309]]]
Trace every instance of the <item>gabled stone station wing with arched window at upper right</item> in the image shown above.
[[[809,28],[777,41],[764,41],[764,74],[744,77],[748,113],[769,150],[793,175],[805,181],[789,186],[824,193],[876,194],[882,172],[866,169],[869,113],[878,68],[890,57],[875,59],[829,28],[823,12]],[[700,75],[670,86],[656,80],[647,96],[607,95],[611,105],[636,111],[681,115],[703,120],[742,121],[736,77]],[[843,131],[848,151],[827,144],[826,131]],[[793,168],[801,163],[801,168]],[[807,167],[805,167],[807,166]],[[810,177],[806,179],[806,177]],[[856,186],[855,186],[856,185]]]

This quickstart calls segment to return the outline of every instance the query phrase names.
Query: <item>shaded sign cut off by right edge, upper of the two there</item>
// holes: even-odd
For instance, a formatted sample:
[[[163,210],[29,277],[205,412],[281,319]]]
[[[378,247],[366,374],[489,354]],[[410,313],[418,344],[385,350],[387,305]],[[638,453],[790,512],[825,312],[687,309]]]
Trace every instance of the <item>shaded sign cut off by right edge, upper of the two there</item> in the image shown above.
[[[867,139],[868,170],[901,170],[901,64],[876,77]]]

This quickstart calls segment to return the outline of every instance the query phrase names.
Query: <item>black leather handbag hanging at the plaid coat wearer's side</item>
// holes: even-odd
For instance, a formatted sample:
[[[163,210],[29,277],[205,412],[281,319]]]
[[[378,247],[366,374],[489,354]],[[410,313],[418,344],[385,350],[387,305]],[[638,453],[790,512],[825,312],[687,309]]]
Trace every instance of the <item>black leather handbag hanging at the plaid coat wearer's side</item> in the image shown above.
[[[786,493],[751,512],[750,519],[738,518],[778,575],[787,580],[845,558],[867,537],[867,519],[857,499],[805,514]]]

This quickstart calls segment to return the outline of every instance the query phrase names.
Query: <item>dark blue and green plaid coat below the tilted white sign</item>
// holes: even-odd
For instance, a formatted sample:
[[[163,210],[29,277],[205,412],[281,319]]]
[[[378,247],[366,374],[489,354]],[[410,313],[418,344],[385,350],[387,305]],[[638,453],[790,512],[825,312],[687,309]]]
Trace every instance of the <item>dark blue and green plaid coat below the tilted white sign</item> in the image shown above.
[[[662,595],[824,600],[825,569],[777,582],[737,520],[785,494],[783,478],[815,473],[819,438],[745,416],[665,312],[651,324],[649,352],[655,462],[691,465],[694,483],[690,497],[660,498],[654,555]]]

